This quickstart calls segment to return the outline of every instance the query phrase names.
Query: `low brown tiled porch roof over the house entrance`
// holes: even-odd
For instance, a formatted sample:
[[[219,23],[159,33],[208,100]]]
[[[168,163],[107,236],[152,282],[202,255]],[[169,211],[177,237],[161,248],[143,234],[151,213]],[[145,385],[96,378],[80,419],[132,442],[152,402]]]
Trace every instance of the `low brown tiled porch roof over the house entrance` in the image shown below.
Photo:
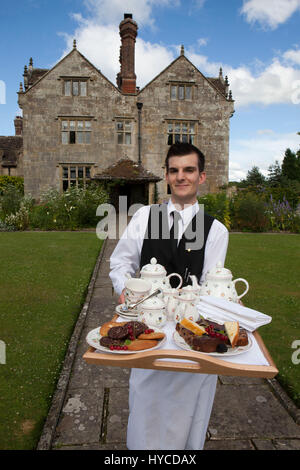
[[[161,180],[160,177],[155,176],[142,165],[129,158],[121,158],[113,165],[96,174],[93,179],[99,181],[123,180],[128,182],[157,182]]]

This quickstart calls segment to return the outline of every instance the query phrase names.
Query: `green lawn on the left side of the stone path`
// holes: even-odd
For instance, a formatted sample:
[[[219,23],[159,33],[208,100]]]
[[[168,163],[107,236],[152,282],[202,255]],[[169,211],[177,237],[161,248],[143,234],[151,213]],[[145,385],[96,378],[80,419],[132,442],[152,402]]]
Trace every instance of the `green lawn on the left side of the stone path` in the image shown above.
[[[0,449],[34,449],[101,243],[95,233],[0,233]]]

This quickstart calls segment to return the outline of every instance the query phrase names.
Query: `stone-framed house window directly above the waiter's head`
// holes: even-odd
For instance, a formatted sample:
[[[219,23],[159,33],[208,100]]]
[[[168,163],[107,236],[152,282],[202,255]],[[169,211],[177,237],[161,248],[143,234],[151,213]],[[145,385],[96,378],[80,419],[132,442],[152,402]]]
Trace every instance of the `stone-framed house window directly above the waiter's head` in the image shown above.
[[[196,139],[198,134],[198,126],[196,120],[174,118],[166,119],[165,121],[167,127],[167,145],[172,145],[176,142],[187,142],[196,145]],[[176,136],[179,136],[179,139]],[[183,136],[186,136],[186,138],[183,139]]]

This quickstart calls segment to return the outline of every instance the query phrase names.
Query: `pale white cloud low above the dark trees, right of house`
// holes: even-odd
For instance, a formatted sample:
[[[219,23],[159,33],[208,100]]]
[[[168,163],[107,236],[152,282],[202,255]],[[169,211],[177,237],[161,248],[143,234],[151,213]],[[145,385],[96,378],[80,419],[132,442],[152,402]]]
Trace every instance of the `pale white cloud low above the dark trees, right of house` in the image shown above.
[[[281,163],[287,148],[297,151],[299,143],[296,132],[276,134],[270,129],[259,137],[232,140],[229,152],[229,180],[239,181],[245,178],[253,166],[257,166],[261,173],[267,176],[269,166],[276,160]]]

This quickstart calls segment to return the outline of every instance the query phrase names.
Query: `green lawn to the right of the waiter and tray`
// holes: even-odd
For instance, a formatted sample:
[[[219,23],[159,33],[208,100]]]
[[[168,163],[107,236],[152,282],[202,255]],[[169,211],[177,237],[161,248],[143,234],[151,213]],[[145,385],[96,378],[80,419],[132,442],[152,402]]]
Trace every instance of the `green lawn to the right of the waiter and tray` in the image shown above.
[[[299,406],[300,364],[292,362],[291,345],[300,341],[300,236],[232,233],[225,265],[234,279],[249,282],[243,303],[272,317],[259,333],[279,370],[278,381]],[[237,289],[242,292],[244,285]]]

